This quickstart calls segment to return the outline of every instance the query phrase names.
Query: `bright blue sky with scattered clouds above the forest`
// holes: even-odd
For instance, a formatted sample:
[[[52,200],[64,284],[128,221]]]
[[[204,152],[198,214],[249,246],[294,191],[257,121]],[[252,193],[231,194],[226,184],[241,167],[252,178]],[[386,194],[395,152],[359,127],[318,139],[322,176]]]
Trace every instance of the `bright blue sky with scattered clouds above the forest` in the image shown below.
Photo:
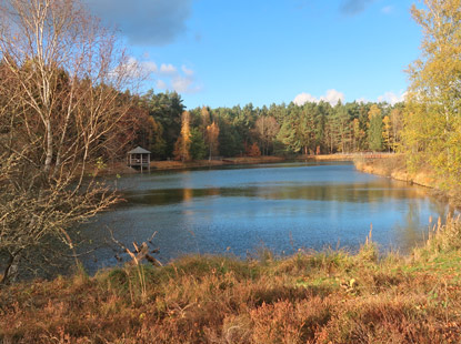
[[[86,0],[187,108],[394,102],[421,32],[410,0]]]

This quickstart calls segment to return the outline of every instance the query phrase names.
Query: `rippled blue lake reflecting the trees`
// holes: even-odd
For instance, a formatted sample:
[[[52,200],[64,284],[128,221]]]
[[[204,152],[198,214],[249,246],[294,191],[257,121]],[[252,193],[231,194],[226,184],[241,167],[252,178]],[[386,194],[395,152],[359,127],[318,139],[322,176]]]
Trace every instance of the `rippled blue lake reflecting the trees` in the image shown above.
[[[126,202],[81,229],[99,246],[83,259],[89,272],[117,264],[104,244],[108,229],[127,245],[157,232],[162,262],[190,253],[244,257],[259,249],[357,250],[371,224],[381,251],[407,252],[427,236],[430,216],[449,212],[427,189],[358,172],[349,162],[161,171],[117,183]]]

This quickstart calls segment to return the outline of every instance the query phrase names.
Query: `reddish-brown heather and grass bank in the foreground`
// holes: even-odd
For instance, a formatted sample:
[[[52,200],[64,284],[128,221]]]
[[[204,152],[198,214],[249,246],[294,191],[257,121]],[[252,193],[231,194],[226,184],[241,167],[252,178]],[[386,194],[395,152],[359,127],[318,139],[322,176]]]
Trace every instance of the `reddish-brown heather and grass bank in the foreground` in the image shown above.
[[[0,290],[3,343],[460,343],[461,224],[409,256],[183,257]]]

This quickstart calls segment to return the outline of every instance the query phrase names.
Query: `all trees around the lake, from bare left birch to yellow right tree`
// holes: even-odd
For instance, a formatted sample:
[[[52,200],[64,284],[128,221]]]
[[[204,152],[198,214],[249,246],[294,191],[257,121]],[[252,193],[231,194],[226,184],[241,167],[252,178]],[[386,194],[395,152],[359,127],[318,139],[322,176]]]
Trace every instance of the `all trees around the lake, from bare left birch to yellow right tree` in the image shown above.
[[[0,2],[0,284],[23,262],[70,249],[68,230],[119,200],[98,179],[129,148],[154,159],[400,151],[461,186],[461,3],[413,7],[422,54],[405,103],[294,103],[187,110],[138,94],[113,32],[78,0]]]

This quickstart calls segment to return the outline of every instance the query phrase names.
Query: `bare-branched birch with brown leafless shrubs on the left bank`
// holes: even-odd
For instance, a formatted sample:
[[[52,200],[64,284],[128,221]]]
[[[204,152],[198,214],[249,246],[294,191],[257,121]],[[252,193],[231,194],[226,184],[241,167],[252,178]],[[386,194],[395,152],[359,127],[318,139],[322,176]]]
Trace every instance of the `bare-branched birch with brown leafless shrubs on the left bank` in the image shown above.
[[[1,1],[0,58],[6,283],[21,257],[50,236],[72,246],[67,230],[117,201],[94,168],[129,139],[130,98],[121,90],[134,65],[74,0]]]

